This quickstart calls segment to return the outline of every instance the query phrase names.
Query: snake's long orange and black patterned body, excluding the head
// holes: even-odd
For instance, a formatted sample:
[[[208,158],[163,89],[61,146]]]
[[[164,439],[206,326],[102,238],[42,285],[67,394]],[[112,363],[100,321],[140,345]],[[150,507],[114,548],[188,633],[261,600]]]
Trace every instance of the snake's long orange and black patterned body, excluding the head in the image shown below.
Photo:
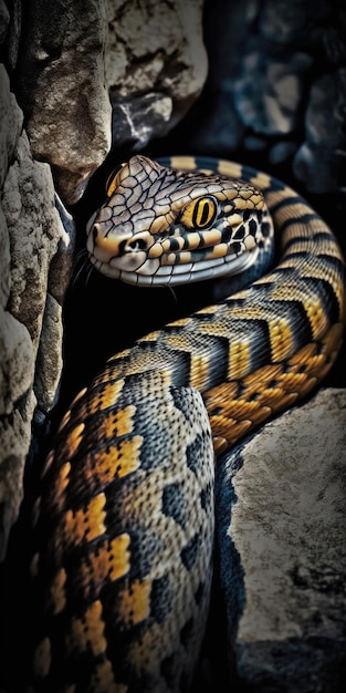
[[[38,691],[188,691],[209,602],[213,449],[310,392],[340,346],[344,261],[306,201],[238,164],[169,163],[249,180],[249,197],[260,188],[280,259],[115,354],[64,416],[33,513]],[[205,188],[186,211],[202,232],[216,211]]]

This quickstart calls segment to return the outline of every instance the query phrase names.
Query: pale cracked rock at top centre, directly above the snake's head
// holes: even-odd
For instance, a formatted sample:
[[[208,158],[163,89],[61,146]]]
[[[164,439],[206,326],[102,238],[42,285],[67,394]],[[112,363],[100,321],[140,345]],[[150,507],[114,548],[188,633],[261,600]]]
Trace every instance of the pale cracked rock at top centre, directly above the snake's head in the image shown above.
[[[202,0],[108,0],[113,144],[144,147],[186,114],[207,76]]]

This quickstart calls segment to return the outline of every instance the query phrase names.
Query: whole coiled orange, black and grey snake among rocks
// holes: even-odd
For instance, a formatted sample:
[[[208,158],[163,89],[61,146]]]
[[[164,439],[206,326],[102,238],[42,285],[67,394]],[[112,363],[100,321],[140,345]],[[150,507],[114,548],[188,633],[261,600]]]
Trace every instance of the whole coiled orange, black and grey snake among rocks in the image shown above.
[[[86,248],[107,278],[213,282],[216,299],[107,359],[62,417],[31,514],[33,685],[187,692],[210,604],[216,461],[331,370],[344,259],[285,183],[195,156],[116,166]]]

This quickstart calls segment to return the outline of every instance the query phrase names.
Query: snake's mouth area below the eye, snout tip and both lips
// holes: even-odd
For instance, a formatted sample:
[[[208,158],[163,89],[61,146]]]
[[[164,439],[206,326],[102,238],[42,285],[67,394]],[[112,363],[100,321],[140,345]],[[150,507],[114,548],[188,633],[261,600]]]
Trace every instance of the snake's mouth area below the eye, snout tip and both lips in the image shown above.
[[[180,229],[169,237],[155,237],[147,229],[133,234],[124,226],[115,232],[103,220],[91,225],[86,246],[101,273],[136,286],[182,285],[237,275],[258,257],[251,234],[232,238],[228,229],[212,228],[203,234],[184,236]]]

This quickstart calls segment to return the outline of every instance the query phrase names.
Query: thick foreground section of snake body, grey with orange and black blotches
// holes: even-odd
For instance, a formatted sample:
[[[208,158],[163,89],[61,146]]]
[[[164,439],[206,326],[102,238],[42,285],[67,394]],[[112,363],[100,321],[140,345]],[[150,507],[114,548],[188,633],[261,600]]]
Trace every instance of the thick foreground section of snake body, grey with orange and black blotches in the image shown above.
[[[45,463],[31,563],[38,691],[186,690],[197,661],[213,542],[210,425],[199,393],[167,387],[165,373],[136,381],[112,382],[106,368]]]

